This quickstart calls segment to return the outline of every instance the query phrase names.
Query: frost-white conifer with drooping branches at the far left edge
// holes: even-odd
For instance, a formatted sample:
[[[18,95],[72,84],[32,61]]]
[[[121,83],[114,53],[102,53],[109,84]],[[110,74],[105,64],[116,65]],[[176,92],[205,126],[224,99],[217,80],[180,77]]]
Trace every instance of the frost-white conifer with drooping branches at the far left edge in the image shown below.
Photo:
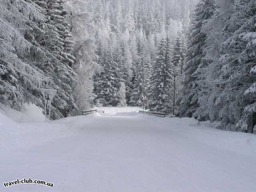
[[[42,32],[34,22],[44,22],[40,11],[30,0],[0,0],[0,103],[14,109],[31,101],[46,80],[35,66],[45,54],[30,41],[33,30]]]

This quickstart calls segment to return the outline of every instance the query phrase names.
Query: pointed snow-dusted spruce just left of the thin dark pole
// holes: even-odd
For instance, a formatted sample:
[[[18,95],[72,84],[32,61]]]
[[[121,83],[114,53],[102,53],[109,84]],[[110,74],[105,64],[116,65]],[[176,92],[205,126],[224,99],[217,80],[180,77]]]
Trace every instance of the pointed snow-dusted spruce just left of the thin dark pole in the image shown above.
[[[167,94],[173,90],[173,69],[170,38],[162,38],[150,78],[150,110],[170,112]]]

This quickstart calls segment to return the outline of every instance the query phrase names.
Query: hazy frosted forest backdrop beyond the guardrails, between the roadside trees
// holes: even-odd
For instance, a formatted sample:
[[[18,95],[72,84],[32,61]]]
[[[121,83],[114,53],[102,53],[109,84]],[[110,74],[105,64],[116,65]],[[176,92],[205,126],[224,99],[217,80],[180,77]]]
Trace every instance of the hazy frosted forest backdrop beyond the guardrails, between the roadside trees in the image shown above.
[[[143,97],[152,110],[172,110],[174,74],[176,97],[181,87],[191,2],[90,3],[99,67],[94,74],[96,106],[141,106]]]

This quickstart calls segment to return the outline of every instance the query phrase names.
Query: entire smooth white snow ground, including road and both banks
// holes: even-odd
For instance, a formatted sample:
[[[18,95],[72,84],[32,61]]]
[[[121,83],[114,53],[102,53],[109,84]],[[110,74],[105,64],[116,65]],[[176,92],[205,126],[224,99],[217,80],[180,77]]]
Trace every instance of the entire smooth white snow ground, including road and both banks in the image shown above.
[[[26,112],[14,121],[0,111],[0,191],[256,191],[256,135],[138,109],[99,108],[53,122],[29,122],[35,117]],[[45,180],[54,188],[4,188],[17,178]]]

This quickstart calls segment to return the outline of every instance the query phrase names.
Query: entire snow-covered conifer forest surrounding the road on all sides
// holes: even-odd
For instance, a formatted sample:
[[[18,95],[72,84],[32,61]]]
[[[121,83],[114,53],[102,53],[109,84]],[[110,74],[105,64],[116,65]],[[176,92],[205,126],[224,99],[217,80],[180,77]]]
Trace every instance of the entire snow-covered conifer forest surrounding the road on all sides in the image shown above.
[[[255,0],[0,0],[0,106],[52,88],[56,120],[144,98],[256,134],[255,74]]]

